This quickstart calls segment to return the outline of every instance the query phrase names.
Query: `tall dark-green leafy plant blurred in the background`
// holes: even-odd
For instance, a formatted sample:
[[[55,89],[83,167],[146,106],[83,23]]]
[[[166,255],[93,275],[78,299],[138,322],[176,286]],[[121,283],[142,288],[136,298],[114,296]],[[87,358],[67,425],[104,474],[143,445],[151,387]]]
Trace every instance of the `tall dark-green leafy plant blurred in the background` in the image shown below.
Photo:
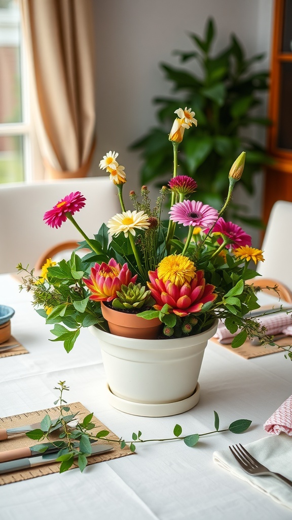
[[[269,72],[255,69],[264,55],[247,57],[233,34],[229,44],[216,52],[216,26],[209,18],[203,36],[190,33],[189,51],[176,50],[179,66],[161,63],[171,84],[171,94],[154,99],[157,123],[137,139],[132,150],[141,154],[141,183],[161,183],[171,172],[172,154],[166,129],[179,105],[191,106],[200,126],[188,132],[180,147],[180,171],[194,177],[200,185],[200,200],[220,209],[228,189],[226,171],[241,150],[246,151],[242,185],[253,194],[255,175],[271,158],[256,138],[271,122],[259,115],[268,92]],[[255,132],[256,131],[256,132]],[[246,208],[231,204],[229,218],[260,226],[258,218],[247,215]]]

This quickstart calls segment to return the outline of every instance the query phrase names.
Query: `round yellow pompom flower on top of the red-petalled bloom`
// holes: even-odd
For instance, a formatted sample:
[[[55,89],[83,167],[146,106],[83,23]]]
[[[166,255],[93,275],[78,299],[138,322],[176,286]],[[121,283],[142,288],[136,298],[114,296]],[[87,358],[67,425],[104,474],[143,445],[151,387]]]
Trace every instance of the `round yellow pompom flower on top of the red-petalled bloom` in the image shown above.
[[[195,276],[195,264],[182,255],[169,255],[158,264],[157,275],[164,283],[170,280],[178,287],[190,282]]]

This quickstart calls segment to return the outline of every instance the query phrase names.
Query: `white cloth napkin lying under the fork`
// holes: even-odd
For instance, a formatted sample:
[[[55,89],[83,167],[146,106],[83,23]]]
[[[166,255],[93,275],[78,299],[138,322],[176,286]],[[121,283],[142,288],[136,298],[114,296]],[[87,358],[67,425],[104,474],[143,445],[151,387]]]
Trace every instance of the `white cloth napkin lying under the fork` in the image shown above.
[[[264,437],[244,445],[251,455],[269,470],[281,473],[292,480],[292,438],[281,433]],[[292,488],[273,475],[253,476],[246,473],[233,457],[230,449],[215,451],[213,460],[232,475],[245,480],[275,502],[292,510]]]

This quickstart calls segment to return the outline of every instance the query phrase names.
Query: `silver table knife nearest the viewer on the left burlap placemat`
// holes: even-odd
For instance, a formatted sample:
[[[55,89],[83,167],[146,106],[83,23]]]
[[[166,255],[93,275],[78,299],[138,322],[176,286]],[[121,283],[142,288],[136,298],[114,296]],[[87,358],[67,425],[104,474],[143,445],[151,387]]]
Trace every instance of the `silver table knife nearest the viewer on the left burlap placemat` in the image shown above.
[[[106,451],[111,451],[113,449],[112,446],[106,444],[98,444],[96,446],[92,446],[92,455],[105,453]],[[38,457],[28,457],[26,459],[17,459],[11,460],[9,462],[1,462],[0,463],[0,475],[3,473],[9,473],[10,471],[19,471],[26,470],[35,466],[43,466],[44,464],[49,464],[50,462],[54,462],[58,459],[58,452],[55,453],[45,453],[44,455],[40,455]]]

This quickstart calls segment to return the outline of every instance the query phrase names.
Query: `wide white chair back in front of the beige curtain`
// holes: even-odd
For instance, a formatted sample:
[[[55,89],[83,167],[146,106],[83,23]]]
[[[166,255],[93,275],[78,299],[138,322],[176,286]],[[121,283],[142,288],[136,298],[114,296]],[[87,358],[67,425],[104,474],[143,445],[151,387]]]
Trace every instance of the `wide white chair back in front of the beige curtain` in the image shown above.
[[[19,262],[39,268],[38,259],[50,248],[60,250],[63,242],[73,242],[72,247],[83,240],[69,220],[58,229],[43,220],[44,213],[72,191],[80,191],[86,198],[74,218],[89,238],[103,222],[121,212],[117,189],[109,177],[0,186],[0,272],[15,272]]]

